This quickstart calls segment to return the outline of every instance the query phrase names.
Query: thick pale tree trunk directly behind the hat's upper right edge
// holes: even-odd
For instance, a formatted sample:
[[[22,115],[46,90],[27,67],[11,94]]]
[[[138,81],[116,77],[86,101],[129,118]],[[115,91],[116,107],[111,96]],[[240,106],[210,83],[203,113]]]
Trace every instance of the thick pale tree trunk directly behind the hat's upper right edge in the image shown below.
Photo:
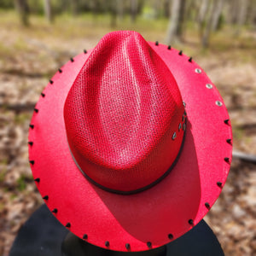
[[[166,44],[180,41],[183,34],[185,0],[172,0],[171,17],[167,29]]]

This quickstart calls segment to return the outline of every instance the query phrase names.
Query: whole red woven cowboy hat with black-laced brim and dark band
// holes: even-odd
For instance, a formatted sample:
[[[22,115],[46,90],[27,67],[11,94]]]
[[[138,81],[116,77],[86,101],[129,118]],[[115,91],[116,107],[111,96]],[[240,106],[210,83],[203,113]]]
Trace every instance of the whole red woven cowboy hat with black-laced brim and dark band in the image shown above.
[[[108,33],[55,73],[29,132],[49,210],[98,247],[143,251],[198,224],[230,170],[222,97],[182,52]]]

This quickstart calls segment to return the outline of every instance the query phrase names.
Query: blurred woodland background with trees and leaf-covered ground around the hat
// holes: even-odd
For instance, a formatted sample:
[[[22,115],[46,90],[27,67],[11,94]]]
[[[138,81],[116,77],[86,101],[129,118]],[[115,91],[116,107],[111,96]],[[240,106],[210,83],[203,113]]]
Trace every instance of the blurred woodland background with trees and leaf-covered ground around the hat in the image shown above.
[[[0,0],[0,255],[43,203],[27,154],[40,93],[59,67],[114,30],[192,55],[224,97],[234,148],[256,154],[255,0]],[[255,171],[234,158],[205,218],[225,255],[256,255]]]

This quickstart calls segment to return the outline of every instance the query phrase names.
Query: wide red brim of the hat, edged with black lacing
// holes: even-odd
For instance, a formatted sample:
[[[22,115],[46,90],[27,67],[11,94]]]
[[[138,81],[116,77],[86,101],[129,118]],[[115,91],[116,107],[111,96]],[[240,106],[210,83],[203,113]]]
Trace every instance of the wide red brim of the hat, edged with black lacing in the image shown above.
[[[68,229],[76,236],[116,251],[143,251],[182,236],[212,207],[230,170],[232,146],[227,140],[232,132],[230,123],[224,122],[229,115],[218,90],[188,56],[163,44],[148,44],[172,71],[187,112],[183,149],[160,183],[135,195],[117,195],[90,183],[74,163],[63,107],[91,50],[55,73],[37,103],[29,132],[33,177],[39,178],[40,194],[48,195],[49,210],[57,209],[55,217],[64,226],[70,224]]]

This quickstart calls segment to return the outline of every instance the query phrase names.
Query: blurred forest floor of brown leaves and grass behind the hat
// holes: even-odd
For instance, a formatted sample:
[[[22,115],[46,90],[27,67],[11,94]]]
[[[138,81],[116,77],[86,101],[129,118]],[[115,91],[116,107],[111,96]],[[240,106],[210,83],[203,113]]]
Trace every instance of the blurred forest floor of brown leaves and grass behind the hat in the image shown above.
[[[132,29],[164,43],[167,20],[124,20],[62,15],[49,25],[32,17],[22,27],[15,14],[0,13],[0,255],[8,256],[15,236],[43,200],[28,165],[27,135],[32,110],[44,86],[70,57],[96,45],[112,30]],[[193,26],[174,45],[193,55],[224,98],[233,125],[234,148],[256,154],[256,32],[231,27],[212,35],[201,49]],[[256,255],[256,166],[233,160],[227,183],[205,220],[227,256]]]

